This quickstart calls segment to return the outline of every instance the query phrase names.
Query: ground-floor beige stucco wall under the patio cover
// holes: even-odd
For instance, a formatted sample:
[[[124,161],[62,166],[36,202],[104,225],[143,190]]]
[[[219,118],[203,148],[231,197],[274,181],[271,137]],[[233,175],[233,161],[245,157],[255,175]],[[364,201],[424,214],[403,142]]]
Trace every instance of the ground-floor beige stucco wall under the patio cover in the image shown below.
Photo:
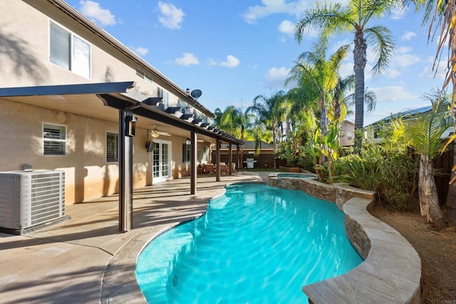
[[[106,162],[105,155],[106,132],[118,132],[117,123],[1,99],[0,105],[1,172],[21,170],[24,164],[33,169],[62,169],[66,176],[66,204],[118,192],[118,163]],[[44,122],[66,126],[66,155],[43,156]],[[160,138],[171,143],[172,178],[190,174],[190,166],[182,164],[186,138]],[[147,140],[147,130],[137,129],[133,137],[135,188],[152,184],[152,153],[145,150]]]

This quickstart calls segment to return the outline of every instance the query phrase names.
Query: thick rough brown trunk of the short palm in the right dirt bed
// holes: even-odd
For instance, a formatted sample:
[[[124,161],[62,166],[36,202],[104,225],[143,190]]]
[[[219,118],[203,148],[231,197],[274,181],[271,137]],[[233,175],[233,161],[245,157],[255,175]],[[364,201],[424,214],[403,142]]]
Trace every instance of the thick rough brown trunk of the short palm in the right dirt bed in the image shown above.
[[[432,174],[432,159],[420,154],[420,172],[418,177],[418,194],[420,196],[421,216],[426,219],[432,228],[445,227],[445,219],[439,206],[437,187]]]

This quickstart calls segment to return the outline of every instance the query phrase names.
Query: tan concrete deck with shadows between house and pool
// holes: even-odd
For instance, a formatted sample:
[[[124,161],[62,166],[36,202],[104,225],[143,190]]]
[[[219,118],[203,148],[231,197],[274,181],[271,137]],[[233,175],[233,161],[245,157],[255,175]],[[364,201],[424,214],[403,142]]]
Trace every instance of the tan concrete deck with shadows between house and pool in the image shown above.
[[[144,303],[135,280],[143,246],[204,213],[209,199],[224,193],[224,185],[267,182],[269,173],[236,172],[222,176],[222,182],[213,175],[198,177],[195,196],[188,178],[136,189],[135,229],[125,234],[118,232],[115,195],[66,206],[70,220],[25,236],[0,234],[0,303]],[[402,251],[401,246],[395,250]]]

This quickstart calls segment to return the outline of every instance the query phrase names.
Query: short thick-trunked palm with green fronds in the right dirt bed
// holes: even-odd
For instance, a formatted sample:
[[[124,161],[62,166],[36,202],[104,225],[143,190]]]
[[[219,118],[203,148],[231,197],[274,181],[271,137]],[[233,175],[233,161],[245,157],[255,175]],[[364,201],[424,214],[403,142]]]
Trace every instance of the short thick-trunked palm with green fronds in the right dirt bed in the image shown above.
[[[437,187],[432,172],[432,158],[440,152],[444,142],[442,134],[447,130],[447,96],[442,91],[433,92],[425,97],[432,103],[432,111],[418,117],[408,125],[407,134],[411,146],[420,154],[418,194],[420,196],[421,216],[436,229],[445,226],[445,219],[439,206]]]

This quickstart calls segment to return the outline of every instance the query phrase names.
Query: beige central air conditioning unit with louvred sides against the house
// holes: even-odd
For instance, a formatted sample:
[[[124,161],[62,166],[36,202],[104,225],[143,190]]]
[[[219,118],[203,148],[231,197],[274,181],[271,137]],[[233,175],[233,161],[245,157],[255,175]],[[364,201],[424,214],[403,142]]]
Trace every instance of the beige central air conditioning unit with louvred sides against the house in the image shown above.
[[[65,172],[0,172],[0,227],[24,230],[65,216]]]

